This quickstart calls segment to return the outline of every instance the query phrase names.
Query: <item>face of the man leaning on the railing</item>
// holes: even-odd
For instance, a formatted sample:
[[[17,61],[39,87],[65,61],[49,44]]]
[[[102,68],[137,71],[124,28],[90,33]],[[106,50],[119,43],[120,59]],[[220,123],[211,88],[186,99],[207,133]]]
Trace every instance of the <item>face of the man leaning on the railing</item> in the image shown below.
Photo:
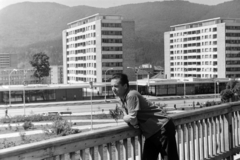
[[[112,79],[111,80],[111,85],[112,85],[112,91],[113,91],[113,94],[115,96],[118,96],[120,98],[122,98],[125,93],[126,93],[126,90],[127,90],[127,84],[125,85],[122,85],[120,83],[120,79]]]

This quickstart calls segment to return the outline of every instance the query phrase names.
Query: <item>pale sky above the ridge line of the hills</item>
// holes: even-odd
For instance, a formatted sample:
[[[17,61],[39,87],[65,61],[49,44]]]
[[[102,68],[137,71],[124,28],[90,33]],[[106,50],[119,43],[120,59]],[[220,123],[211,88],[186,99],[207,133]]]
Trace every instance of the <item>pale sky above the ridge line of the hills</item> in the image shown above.
[[[143,2],[153,2],[153,1],[162,1],[162,0],[0,0],[0,9],[19,2],[56,2],[66,6],[79,6],[87,5],[100,8],[108,8],[113,6],[119,6],[123,4],[130,3],[143,3]],[[216,5],[231,0],[188,0],[193,3],[207,4],[207,5]]]

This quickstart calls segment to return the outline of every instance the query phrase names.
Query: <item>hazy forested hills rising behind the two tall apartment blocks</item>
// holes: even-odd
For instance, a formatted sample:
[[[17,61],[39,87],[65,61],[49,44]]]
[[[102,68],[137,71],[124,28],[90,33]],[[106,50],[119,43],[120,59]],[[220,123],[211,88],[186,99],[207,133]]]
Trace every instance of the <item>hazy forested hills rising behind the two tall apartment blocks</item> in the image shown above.
[[[29,57],[41,51],[50,56],[51,65],[62,64],[61,36],[67,23],[96,13],[134,20],[137,63],[163,65],[163,35],[169,26],[215,17],[240,18],[240,0],[216,6],[163,1],[111,8],[18,3],[0,10],[0,52],[18,54],[20,66],[28,65]]]

